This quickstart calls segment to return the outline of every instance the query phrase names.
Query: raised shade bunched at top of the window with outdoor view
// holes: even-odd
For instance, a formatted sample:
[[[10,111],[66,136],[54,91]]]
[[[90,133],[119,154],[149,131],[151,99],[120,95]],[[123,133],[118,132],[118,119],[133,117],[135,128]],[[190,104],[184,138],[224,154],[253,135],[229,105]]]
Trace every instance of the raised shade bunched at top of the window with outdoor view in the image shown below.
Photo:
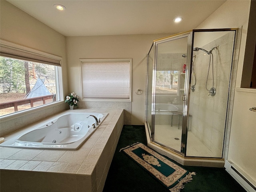
[[[3,40],[0,41],[0,56],[60,66],[60,57],[58,56],[26,48]]]

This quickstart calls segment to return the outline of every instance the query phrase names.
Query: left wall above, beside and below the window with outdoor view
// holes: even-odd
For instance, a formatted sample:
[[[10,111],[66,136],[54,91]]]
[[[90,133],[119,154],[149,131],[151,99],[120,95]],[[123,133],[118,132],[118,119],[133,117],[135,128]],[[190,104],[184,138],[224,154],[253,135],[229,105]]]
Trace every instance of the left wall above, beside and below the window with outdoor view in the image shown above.
[[[65,36],[4,0],[0,1],[0,25],[1,40],[62,57],[63,84],[64,93],[66,93],[68,88]],[[28,119],[30,123],[32,123],[61,111],[64,108],[65,105],[63,102],[63,104],[55,106],[54,108],[47,108],[37,113],[7,121],[1,120],[0,127],[18,129],[28,124]]]

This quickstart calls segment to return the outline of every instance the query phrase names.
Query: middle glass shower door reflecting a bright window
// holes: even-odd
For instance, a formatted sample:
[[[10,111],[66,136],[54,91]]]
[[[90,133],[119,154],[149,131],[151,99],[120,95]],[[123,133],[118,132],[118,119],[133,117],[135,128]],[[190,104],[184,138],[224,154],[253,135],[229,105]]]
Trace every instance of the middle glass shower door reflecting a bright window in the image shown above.
[[[182,152],[188,35],[155,42],[154,142]],[[186,132],[186,126],[183,130]]]

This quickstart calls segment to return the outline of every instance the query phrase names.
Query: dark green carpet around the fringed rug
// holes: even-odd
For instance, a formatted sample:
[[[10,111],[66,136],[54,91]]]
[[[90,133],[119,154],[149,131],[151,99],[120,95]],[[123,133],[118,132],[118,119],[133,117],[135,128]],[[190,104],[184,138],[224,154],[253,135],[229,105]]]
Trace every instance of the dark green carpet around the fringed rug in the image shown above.
[[[158,180],[141,168],[136,162],[119,152],[132,143],[146,143],[144,126],[124,125],[114,154],[103,192],[168,192]],[[168,157],[165,157],[170,160]],[[189,172],[196,172],[181,192],[246,192],[224,168],[182,166]]]

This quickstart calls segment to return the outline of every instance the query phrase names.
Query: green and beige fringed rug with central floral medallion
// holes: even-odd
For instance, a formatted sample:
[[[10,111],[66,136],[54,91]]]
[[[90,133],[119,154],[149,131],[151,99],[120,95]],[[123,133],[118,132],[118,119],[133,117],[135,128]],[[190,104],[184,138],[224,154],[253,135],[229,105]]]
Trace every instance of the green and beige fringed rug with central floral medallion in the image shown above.
[[[180,192],[195,172],[188,172],[142,143],[120,149],[159,180],[170,192]]]

